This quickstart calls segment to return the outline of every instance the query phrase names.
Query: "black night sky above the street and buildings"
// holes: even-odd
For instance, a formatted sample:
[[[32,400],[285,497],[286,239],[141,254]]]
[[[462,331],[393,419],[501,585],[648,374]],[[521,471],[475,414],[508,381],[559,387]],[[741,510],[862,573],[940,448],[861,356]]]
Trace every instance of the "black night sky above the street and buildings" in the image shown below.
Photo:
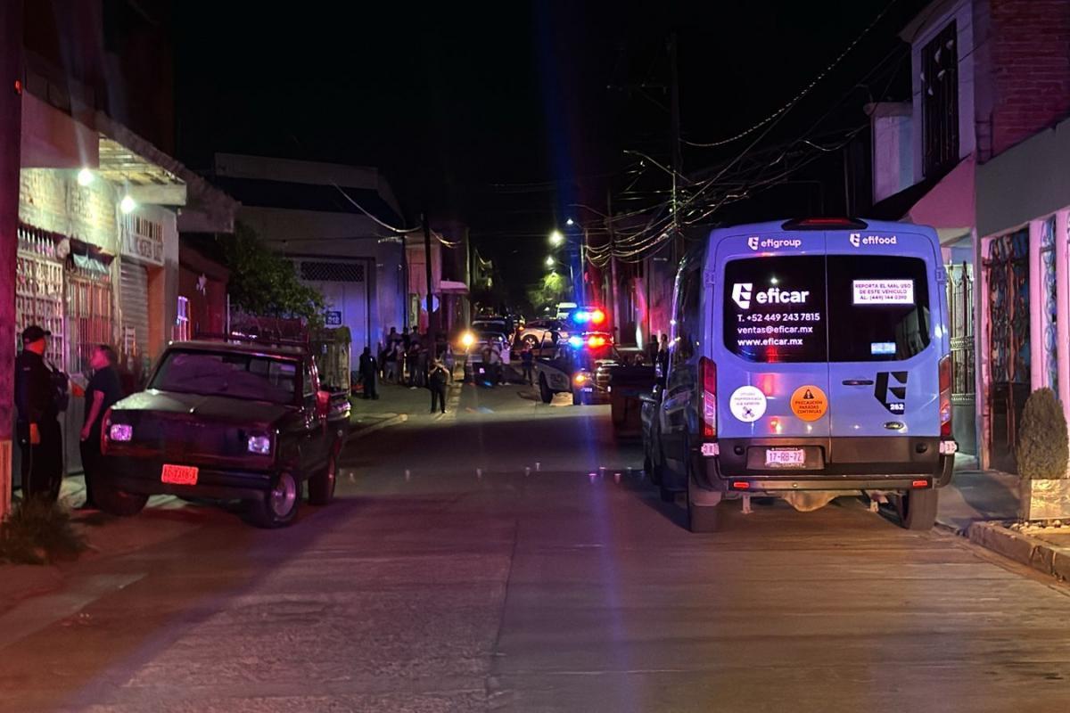
[[[682,135],[702,143],[784,105],[887,9],[754,146],[761,157],[754,152],[801,136],[830,145],[866,122],[866,102],[905,99],[908,55],[897,33],[924,4],[308,2],[279,13],[183,0],[179,153],[195,169],[214,151],[378,166],[410,222],[424,206],[467,222],[517,294],[539,275],[555,224],[596,218],[570,203],[605,210],[608,190],[618,208],[666,200],[668,176],[649,164],[637,173],[639,159],[625,150],[670,160],[670,33]],[[684,171],[702,175],[756,137],[685,145]],[[793,179],[823,181],[824,212],[843,211],[842,198],[829,197],[843,191],[839,155]],[[810,201],[814,186],[782,186],[710,219],[781,217],[778,207],[798,198],[790,191]]]

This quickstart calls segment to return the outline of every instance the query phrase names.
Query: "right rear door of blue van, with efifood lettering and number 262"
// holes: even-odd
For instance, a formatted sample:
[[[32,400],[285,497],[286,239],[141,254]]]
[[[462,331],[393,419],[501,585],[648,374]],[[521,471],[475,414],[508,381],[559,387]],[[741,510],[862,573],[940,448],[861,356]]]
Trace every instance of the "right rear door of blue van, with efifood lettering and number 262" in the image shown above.
[[[938,247],[918,233],[829,232],[830,466],[886,464],[931,470],[939,436],[943,269]],[[891,438],[891,440],[888,440]],[[898,440],[898,445],[896,444]],[[931,451],[931,452],[929,452]]]

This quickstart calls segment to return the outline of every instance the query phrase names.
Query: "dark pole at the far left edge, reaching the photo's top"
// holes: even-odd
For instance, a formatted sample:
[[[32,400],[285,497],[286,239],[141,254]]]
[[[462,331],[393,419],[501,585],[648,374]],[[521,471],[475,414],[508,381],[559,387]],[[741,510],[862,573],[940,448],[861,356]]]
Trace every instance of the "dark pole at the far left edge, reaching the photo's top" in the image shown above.
[[[0,521],[11,508],[15,269],[22,136],[22,2],[0,2]]]

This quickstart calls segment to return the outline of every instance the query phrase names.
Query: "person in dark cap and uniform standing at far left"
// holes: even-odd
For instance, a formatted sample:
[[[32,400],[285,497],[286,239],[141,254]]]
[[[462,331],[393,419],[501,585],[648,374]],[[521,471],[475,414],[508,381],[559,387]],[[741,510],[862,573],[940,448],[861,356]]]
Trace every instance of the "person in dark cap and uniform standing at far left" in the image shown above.
[[[15,358],[15,423],[22,452],[22,497],[59,498],[63,475],[63,437],[54,370],[45,362],[51,332],[37,325],[22,330],[22,351]]]

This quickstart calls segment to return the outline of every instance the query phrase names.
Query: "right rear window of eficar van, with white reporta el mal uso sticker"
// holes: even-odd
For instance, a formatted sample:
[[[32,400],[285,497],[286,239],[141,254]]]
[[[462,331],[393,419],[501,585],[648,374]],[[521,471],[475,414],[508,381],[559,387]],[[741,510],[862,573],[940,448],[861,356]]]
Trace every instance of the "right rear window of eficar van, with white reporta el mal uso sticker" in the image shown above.
[[[926,262],[895,255],[828,255],[830,361],[908,359],[929,346]]]

